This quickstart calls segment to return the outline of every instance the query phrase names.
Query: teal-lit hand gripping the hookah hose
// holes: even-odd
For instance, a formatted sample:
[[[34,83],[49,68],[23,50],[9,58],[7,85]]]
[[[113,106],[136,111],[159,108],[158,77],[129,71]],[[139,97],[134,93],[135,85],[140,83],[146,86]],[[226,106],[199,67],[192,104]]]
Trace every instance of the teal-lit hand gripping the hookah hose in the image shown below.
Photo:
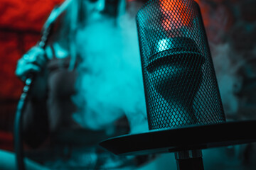
[[[18,60],[16,76],[25,81],[28,74],[38,73],[46,67],[46,53],[40,47],[32,47]]]

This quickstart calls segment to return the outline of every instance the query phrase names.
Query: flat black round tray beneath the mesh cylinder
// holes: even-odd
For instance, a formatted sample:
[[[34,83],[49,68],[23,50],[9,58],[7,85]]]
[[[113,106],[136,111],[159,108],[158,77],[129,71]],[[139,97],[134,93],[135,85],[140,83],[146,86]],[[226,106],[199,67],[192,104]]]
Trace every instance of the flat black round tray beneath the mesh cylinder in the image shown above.
[[[119,155],[178,152],[256,142],[256,120],[182,128],[150,130],[134,135],[113,137],[100,143]]]

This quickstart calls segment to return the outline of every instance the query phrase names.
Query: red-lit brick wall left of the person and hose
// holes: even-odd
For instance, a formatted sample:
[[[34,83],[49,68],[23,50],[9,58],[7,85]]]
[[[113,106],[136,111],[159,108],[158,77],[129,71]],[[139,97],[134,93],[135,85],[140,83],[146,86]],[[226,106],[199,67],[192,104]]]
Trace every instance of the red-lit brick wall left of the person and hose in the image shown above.
[[[14,75],[17,60],[40,38],[41,27],[63,0],[1,0],[0,148],[11,149],[14,113],[23,83]]]

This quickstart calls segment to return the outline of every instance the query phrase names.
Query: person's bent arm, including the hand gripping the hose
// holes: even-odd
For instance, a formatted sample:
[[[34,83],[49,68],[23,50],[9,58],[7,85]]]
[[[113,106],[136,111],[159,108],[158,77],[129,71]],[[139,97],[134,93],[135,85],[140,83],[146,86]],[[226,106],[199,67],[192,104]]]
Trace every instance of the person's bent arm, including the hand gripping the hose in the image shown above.
[[[23,112],[23,140],[38,147],[48,136],[46,55],[39,47],[32,47],[18,60],[16,76],[24,81],[29,74],[35,74],[35,79]]]

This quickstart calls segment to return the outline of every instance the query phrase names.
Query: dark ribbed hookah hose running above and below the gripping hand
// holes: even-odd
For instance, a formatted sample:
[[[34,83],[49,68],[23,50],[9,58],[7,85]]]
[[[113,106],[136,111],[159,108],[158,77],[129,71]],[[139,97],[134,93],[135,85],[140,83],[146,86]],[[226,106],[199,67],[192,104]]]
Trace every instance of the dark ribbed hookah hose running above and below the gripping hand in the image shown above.
[[[41,31],[41,40],[38,41],[38,47],[43,49],[46,48],[46,44],[48,42],[48,38],[52,32],[53,25],[55,21],[58,19],[61,13],[66,10],[66,8],[70,5],[73,0],[66,0],[60,6],[56,6],[53,8],[53,11],[50,13],[46,23],[43,26]],[[26,102],[28,101],[29,92],[31,90],[31,86],[33,86],[33,80],[35,79],[35,74],[28,75],[25,86],[23,87],[23,92],[21,94],[21,98],[18,101],[18,105],[16,108],[16,114],[14,118],[14,151],[16,153],[16,169],[25,170],[24,164],[24,155],[23,155],[23,138],[22,138],[22,128],[23,128],[23,111],[26,106]]]

